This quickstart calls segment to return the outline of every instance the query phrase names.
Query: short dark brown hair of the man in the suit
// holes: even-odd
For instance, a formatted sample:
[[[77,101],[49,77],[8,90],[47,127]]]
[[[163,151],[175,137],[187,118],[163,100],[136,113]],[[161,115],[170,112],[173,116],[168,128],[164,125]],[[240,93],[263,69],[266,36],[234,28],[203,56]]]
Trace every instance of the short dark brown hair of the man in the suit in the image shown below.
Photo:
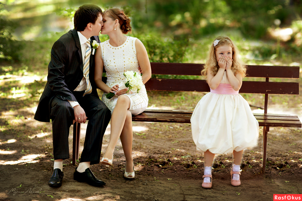
[[[76,10],[74,15],[74,26],[77,31],[84,31],[88,23],[95,24],[99,15],[102,15],[102,9],[97,5],[84,4]]]

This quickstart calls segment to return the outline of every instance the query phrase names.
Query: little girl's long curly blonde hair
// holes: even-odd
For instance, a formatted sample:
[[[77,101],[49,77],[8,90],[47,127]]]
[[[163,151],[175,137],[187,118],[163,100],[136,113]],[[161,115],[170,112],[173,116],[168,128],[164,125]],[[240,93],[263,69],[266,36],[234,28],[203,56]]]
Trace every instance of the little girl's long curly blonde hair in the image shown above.
[[[218,44],[214,46],[214,41],[219,40]],[[212,43],[212,46],[209,50],[209,54],[207,57],[207,62],[204,65],[204,69],[201,71],[201,75],[203,75],[205,78],[207,78],[207,70],[211,69],[212,74],[215,76],[219,70],[217,58],[215,55],[216,49],[220,46],[228,45],[232,47],[232,66],[231,70],[233,71],[233,74],[241,74],[242,77],[246,76],[246,66],[243,64],[243,61],[239,58],[239,50],[237,46],[233,43],[233,41],[228,36],[218,36],[215,38],[215,40]]]

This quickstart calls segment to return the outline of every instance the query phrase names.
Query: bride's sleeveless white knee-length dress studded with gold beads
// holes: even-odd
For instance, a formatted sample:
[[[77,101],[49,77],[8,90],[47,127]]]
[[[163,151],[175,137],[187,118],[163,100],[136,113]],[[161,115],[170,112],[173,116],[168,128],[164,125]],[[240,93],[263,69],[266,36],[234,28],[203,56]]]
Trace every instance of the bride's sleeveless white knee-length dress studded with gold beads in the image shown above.
[[[122,81],[125,82],[126,78],[124,72],[133,71],[140,73],[138,70],[139,63],[135,49],[136,39],[137,38],[128,36],[124,44],[118,47],[111,46],[108,42],[109,40],[100,44],[107,76],[106,85],[110,88]],[[106,93],[103,94],[102,101],[110,109],[112,115],[118,97],[107,99],[105,95]],[[149,99],[145,85],[140,89],[139,93],[126,93],[124,95],[130,98],[129,110],[132,115],[140,114],[147,108]]]

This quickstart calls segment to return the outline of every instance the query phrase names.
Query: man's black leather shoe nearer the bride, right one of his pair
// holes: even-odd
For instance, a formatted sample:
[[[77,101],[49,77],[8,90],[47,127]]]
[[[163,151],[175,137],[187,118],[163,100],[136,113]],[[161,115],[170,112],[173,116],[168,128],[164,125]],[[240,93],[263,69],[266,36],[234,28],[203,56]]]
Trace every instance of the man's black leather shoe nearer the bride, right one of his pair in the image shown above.
[[[86,182],[87,184],[92,186],[103,186],[106,184],[104,181],[98,180],[98,178],[95,177],[90,168],[87,168],[85,172],[78,172],[75,170],[75,172],[73,173],[73,179],[79,182]]]

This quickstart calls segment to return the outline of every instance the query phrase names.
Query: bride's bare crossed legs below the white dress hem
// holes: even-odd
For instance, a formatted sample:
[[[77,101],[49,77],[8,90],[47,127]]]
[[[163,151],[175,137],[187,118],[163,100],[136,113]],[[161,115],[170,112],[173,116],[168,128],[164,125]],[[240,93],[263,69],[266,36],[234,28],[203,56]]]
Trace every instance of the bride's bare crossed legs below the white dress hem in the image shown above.
[[[115,145],[118,138],[122,143],[123,151],[126,158],[126,172],[133,172],[132,159],[132,114],[128,110],[130,108],[130,98],[121,95],[117,99],[117,103],[111,115],[111,132],[110,140],[103,158],[112,159]],[[104,161],[108,161],[104,159]]]

